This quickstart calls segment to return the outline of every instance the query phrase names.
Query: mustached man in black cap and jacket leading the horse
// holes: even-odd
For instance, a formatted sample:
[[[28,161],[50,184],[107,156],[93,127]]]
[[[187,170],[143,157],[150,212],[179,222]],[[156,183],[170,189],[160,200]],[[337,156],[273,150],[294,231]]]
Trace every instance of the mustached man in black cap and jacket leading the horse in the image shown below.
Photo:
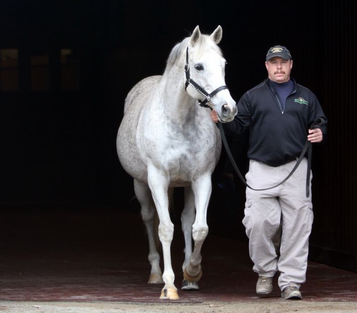
[[[246,92],[237,104],[238,113],[223,124],[229,135],[249,128],[249,172],[247,183],[255,189],[271,187],[288,176],[303,150],[306,138],[322,142],[326,125],[310,129],[325,114],[318,99],[290,78],[293,61],[283,46],[270,48],[265,67],[268,78]],[[213,110],[211,118],[218,122]],[[258,273],[257,294],[272,291],[272,278],[280,272],[278,284],[284,299],[301,299],[305,282],[308,238],[313,220],[311,191],[306,197],[307,160],[278,187],[255,191],[247,188],[243,224],[249,238],[249,253]],[[311,182],[312,175],[310,175]],[[282,220],[280,257],[272,239]]]

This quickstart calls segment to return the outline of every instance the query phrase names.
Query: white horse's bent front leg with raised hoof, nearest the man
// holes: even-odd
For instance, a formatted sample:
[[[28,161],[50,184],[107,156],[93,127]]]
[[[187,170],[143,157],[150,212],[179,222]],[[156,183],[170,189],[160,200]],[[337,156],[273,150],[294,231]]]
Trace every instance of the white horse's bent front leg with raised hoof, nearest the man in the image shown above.
[[[192,225],[192,238],[194,241],[193,252],[183,272],[183,277],[188,282],[198,282],[202,277],[201,249],[208,234],[207,207],[211,197],[211,175],[206,174],[192,182],[196,218]]]

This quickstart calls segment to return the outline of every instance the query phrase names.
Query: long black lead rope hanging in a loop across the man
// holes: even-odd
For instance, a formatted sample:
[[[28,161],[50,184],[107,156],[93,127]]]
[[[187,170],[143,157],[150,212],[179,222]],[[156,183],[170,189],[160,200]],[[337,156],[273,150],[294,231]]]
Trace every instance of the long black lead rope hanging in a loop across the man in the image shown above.
[[[323,126],[325,124],[326,124],[326,121],[324,119],[318,119],[312,124],[310,129],[318,128],[319,126]],[[238,174],[239,178],[242,180],[242,182],[248,188],[250,188],[252,190],[255,190],[255,191],[263,191],[263,190],[272,189],[272,188],[275,188],[275,187],[280,186],[281,184],[285,183],[291,177],[291,175],[294,174],[294,172],[296,171],[296,169],[300,165],[302,159],[304,158],[304,155],[305,155],[306,151],[308,151],[307,152],[307,173],[306,173],[306,198],[309,198],[309,195],[310,195],[310,170],[311,170],[311,158],[312,158],[312,145],[311,145],[310,141],[306,140],[305,145],[304,145],[304,147],[303,147],[303,149],[302,149],[302,151],[300,153],[299,159],[297,160],[294,168],[291,170],[290,174],[282,182],[280,182],[279,184],[276,184],[276,185],[274,185],[272,187],[269,187],[269,188],[255,189],[255,188],[252,188],[250,185],[248,185],[247,181],[243,178],[242,173],[240,172],[240,170],[238,169],[237,165],[235,164],[233,156],[232,156],[232,153],[229,150],[227,139],[226,139],[226,137],[224,135],[222,123],[218,122],[218,128],[219,128],[219,131],[221,133],[223,145],[224,145],[224,147],[226,149],[229,161],[231,162],[235,172]]]

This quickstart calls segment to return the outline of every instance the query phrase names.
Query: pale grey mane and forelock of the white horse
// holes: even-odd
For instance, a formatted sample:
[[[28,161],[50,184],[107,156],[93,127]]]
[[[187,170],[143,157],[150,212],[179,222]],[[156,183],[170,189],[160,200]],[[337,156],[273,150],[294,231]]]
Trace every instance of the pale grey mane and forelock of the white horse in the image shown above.
[[[182,53],[186,53],[186,47],[189,40],[190,37],[186,37],[182,42],[176,44],[174,48],[172,48],[169,58],[166,61],[164,75],[170,71],[171,67],[176,63],[178,57]],[[210,40],[209,35],[201,34],[199,41],[194,45],[195,57],[200,58],[208,47],[214,49],[220,56],[222,56],[221,49],[212,40]]]

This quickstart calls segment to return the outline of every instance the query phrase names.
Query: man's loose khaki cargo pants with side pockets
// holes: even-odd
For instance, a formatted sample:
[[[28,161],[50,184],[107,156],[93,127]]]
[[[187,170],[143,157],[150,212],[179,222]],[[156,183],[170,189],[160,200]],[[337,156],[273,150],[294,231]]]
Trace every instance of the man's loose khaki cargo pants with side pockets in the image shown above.
[[[255,189],[273,186],[286,178],[296,161],[271,167],[251,160],[247,183]],[[282,185],[265,191],[246,190],[243,224],[249,238],[249,254],[253,270],[259,276],[273,277],[280,272],[279,287],[300,287],[305,282],[308,238],[313,220],[310,197],[306,198],[307,160],[304,158],[295,173]],[[275,251],[273,237],[282,221],[280,257]],[[276,237],[276,236],[275,236]],[[276,245],[275,245],[276,246]]]

